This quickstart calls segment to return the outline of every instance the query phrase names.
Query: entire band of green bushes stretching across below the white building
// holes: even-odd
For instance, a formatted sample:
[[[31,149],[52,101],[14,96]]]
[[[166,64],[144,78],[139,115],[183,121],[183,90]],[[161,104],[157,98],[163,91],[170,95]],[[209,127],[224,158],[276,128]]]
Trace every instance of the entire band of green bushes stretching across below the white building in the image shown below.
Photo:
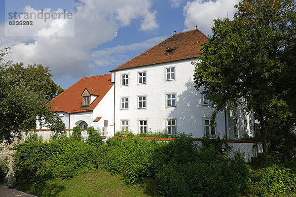
[[[112,174],[121,173],[125,184],[145,183],[153,190],[150,193],[165,197],[231,197],[242,191],[266,197],[296,192],[295,174],[273,165],[278,162],[277,152],[253,158],[251,164],[258,169],[254,171],[239,152],[230,159],[230,147],[219,137],[205,136],[197,147],[192,136],[183,133],[169,142],[134,137],[111,138],[107,144],[93,128],[88,133],[86,142],[75,133],[48,143],[29,135],[15,147],[17,184],[70,178],[79,171],[105,166]],[[270,167],[264,168],[264,163]]]

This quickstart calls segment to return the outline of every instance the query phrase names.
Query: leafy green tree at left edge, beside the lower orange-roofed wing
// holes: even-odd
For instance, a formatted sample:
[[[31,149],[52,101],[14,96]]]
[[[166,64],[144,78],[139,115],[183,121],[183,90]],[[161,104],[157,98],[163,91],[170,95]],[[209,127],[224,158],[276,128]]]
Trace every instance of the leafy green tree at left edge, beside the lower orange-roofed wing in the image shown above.
[[[52,128],[65,128],[46,105],[61,91],[48,68],[3,63],[6,50],[0,50],[0,143],[11,143],[15,136],[21,137],[21,131],[35,129],[37,119]]]

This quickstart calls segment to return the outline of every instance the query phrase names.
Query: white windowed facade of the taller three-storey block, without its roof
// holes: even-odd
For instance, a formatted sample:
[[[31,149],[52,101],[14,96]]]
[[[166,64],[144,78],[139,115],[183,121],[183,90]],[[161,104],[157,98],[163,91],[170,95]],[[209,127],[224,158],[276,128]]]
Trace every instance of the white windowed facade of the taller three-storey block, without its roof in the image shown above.
[[[139,133],[146,123],[147,131],[152,132],[161,131],[170,134],[172,132],[169,130],[176,129],[177,132],[192,133],[193,137],[197,138],[209,131],[213,134],[214,131],[211,133],[211,127],[207,126],[213,108],[204,102],[201,91],[198,92],[195,88],[192,61],[198,61],[198,59],[113,71],[115,132],[124,128]],[[144,72],[145,83],[143,83]],[[173,103],[168,95],[175,95],[174,106],[167,106],[168,98],[170,98],[169,102]],[[143,107],[144,98],[145,107]],[[220,133],[220,136],[226,134],[227,138],[239,139],[245,133],[243,124],[246,123],[247,133],[252,135],[254,130],[252,118],[252,114],[244,117],[239,109],[235,112],[226,112],[226,118],[224,112],[220,112],[216,119],[215,134]]]

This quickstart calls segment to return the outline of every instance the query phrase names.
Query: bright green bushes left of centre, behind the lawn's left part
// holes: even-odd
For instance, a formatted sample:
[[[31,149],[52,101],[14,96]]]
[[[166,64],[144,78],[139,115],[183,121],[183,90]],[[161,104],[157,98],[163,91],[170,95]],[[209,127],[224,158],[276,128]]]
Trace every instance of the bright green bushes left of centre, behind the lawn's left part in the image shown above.
[[[97,168],[102,161],[96,146],[73,137],[42,143],[42,138],[32,134],[14,148],[13,169],[17,184],[73,177],[79,170]]]

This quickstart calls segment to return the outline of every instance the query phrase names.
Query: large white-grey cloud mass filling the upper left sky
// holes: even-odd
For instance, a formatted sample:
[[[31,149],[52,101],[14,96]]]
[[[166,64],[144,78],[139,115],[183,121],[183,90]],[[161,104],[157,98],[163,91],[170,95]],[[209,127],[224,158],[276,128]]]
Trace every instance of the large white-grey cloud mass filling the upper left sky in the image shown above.
[[[5,59],[22,61],[25,65],[37,63],[49,66],[57,79],[65,76],[80,78],[90,75],[93,70],[93,65],[90,65],[94,58],[92,50],[116,37],[119,28],[130,25],[134,19],[142,20],[141,31],[158,27],[156,11],[151,10],[149,0],[80,1],[75,4],[74,36],[61,36],[71,33],[73,26],[69,19],[52,20],[46,25],[41,20],[36,21],[31,30],[24,30],[31,31],[27,32],[28,35],[34,32],[38,35],[36,37],[0,36],[0,48],[11,47],[11,53]],[[31,6],[25,9],[28,12],[39,11]],[[1,31],[4,32],[3,24],[0,24]]]

